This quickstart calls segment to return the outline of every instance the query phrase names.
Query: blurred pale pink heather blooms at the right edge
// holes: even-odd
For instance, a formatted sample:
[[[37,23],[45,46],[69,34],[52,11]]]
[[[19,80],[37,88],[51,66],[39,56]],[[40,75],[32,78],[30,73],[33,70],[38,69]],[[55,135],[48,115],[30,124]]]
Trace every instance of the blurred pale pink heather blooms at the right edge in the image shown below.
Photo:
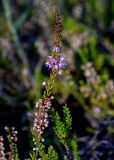
[[[101,75],[97,74],[91,62],[83,65],[82,70],[86,77],[86,83],[80,82],[80,92],[89,101],[91,108],[88,113],[90,117],[93,117],[93,124],[95,124],[95,121],[101,120],[106,114],[114,114],[111,107],[114,105],[114,82],[111,79],[103,82]]]

